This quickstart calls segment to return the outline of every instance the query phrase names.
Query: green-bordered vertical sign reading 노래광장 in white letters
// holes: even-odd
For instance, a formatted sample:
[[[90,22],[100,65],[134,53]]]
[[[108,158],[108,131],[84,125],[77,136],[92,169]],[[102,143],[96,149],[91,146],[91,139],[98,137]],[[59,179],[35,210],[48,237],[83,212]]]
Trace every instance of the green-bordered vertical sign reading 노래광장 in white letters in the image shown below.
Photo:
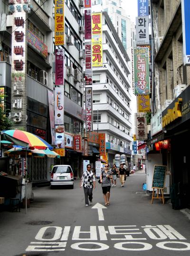
[[[150,94],[149,49],[133,49],[134,61],[134,94]]]

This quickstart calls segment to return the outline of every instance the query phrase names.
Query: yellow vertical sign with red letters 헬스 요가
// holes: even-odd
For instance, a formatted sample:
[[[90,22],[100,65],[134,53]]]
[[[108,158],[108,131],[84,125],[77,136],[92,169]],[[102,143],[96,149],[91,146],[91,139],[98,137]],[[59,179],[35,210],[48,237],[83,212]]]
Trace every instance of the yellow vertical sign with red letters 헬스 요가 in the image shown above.
[[[93,67],[103,66],[102,12],[92,14],[92,63]]]

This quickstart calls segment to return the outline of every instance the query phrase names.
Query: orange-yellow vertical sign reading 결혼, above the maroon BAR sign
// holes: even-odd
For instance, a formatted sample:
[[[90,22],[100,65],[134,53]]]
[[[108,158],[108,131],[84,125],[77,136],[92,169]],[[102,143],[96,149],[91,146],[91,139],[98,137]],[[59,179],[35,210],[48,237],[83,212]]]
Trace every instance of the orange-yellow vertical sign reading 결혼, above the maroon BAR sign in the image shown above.
[[[55,45],[64,45],[65,37],[65,0],[55,0]]]

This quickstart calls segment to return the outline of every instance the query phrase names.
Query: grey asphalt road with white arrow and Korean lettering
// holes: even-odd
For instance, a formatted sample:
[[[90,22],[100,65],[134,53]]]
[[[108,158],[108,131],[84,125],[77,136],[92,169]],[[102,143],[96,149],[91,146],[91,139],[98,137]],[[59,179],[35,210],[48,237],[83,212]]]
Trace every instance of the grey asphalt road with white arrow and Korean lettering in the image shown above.
[[[106,207],[98,182],[87,207],[79,180],[74,189],[34,188],[27,214],[0,212],[0,256],[189,256],[190,219],[170,201],[151,204],[144,182],[142,172],[124,187],[117,179]]]

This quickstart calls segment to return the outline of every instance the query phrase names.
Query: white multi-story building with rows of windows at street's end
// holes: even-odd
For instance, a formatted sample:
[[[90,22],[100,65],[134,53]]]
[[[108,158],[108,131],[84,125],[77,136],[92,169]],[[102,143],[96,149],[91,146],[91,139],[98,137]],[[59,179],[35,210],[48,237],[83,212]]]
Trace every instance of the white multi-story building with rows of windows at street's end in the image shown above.
[[[99,12],[101,5],[92,10]],[[106,135],[108,162],[131,162],[131,83],[129,57],[107,12],[103,12],[103,66],[93,67],[94,130]],[[116,155],[116,157],[115,157]]]

